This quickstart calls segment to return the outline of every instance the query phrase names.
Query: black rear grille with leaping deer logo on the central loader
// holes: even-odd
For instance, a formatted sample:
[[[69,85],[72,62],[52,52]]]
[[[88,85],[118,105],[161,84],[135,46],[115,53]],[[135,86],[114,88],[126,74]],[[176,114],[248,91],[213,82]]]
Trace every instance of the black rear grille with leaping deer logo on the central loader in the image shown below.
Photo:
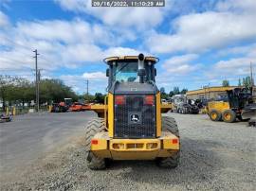
[[[133,122],[133,116],[138,122]],[[114,136],[119,138],[155,137],[155,105],[144,105],[144,96],[125,96],[124,105],[115,105]]]

